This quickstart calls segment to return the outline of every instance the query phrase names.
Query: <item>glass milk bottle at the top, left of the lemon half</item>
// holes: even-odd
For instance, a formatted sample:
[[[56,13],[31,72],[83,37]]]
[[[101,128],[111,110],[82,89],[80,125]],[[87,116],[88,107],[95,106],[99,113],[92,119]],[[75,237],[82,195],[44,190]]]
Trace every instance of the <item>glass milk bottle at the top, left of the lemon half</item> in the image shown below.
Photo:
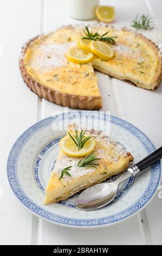
[[[99,0],[68,0],[68,15],[77,20],[93,19]]]

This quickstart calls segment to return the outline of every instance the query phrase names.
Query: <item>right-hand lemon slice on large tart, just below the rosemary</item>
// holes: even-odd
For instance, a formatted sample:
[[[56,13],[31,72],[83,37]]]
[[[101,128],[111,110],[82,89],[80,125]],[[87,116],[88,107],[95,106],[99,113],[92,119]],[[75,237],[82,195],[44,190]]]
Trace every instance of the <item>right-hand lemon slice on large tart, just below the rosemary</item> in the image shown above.
[[[91,41],[90,48],[93,53],[102,59],[107,60],[113,58],[114,56],[113,50],[105,42]]]

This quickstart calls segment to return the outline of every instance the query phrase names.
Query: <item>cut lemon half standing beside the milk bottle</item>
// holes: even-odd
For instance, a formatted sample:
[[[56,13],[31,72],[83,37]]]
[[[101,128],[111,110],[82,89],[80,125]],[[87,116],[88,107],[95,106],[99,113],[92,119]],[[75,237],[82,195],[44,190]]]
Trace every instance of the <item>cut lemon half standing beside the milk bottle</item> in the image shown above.
[[[115,17],[115,8],[113,6],[99,5],[96,7],[96,15],[100,21],[111,22]]]

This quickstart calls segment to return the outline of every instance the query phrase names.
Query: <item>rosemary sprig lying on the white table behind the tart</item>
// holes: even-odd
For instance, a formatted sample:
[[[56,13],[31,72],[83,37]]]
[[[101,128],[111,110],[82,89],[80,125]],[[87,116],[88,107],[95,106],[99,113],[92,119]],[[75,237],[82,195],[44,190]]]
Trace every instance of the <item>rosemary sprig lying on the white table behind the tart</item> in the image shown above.
[[[142,15],[138,19],[138,16],[139,15],[136,15],[135,20],[132,21],[133,23],[132,23],[131,27],[134,27],[136,29],[146,29],[146,30],[153,29],[153,27],[151,27],[153,18],[148,17],[148,15],[147,16]]]

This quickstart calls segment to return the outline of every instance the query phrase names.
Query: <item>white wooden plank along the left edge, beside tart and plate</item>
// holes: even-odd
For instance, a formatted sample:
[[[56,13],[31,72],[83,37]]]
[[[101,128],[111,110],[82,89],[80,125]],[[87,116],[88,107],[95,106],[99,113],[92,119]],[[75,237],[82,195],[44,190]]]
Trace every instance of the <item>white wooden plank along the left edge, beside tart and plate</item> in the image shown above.
[[[0,226],[1,245],[30,244],[32,214],[23,208],[11,192],[6,173],[9,150],[21,132],[37,119],[38,97],[23,83],[18,68],[21,46],[40,33],[41,2],[0,2],[0,44],[3,46],[1,69],[1,172]]]

